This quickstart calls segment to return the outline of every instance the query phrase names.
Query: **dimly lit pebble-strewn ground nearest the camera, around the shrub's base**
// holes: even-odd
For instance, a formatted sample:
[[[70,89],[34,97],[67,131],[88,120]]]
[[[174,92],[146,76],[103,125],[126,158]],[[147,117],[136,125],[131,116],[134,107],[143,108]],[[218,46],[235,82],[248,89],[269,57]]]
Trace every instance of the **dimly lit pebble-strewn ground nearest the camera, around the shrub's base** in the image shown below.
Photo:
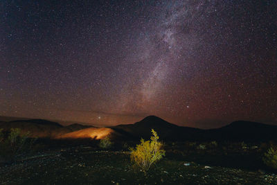
[[[128,152],[92,147],[48,150],[2,164],[0,184],[277,184],[274,172],[168,156],[145,174],[134,168]]]

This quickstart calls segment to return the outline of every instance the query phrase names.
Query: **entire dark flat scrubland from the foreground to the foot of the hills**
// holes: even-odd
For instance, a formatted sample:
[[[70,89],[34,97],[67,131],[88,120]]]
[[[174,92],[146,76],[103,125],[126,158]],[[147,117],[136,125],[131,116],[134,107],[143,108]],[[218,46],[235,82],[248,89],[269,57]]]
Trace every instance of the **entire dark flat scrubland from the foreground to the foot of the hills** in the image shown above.
[[[262,164],[262,144],[203,145],[168,143],[146,174],[127,150],[61,146],[1,164],[0,184],[277,184],[276,171]]]

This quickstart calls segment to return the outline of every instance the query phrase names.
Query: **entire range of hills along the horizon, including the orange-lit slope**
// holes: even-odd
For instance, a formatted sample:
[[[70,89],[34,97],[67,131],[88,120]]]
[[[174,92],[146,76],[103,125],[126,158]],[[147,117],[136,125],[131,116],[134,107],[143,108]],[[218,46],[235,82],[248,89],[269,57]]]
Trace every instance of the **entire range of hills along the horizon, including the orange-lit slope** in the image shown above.
[[[249,121],[235,121],[224,127],[202,130],[193,127],[181,127],[157,116],[148,116],[134,124],[116,125],[113,127],[96,128],[74,123],[66,127],[53,121],[42,119],[0,121],[0,128],[10,130],[19,127],[24,132],[30,132],[36,137],[51,138],[96,138],[111,136],[123,140],[150,139],[151,129],[159,134],[164,141],[277,141],[277,126]]]

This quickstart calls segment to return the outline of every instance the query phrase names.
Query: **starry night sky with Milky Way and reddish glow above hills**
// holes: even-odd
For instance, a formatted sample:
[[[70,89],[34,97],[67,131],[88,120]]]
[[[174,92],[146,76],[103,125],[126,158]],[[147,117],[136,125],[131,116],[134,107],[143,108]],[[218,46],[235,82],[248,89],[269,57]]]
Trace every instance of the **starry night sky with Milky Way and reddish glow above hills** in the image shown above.
[[[277,125],[277,1],[1,1],[0,115]]]

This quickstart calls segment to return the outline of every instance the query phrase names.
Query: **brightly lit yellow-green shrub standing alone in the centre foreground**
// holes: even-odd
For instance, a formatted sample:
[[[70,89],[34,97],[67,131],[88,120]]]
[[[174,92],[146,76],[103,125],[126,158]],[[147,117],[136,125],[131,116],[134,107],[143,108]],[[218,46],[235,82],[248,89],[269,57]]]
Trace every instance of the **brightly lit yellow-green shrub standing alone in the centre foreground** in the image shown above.
[[[144,171],[149,170],[152,164],[159,161],[166,153],[165,150],[161,150],[162,143],[158,141],[157,132],[153,129],[151,132],[153,134],[151,141],[141,139],[141,143],[136,148],[129,148],[131,150],[131,160]]]

